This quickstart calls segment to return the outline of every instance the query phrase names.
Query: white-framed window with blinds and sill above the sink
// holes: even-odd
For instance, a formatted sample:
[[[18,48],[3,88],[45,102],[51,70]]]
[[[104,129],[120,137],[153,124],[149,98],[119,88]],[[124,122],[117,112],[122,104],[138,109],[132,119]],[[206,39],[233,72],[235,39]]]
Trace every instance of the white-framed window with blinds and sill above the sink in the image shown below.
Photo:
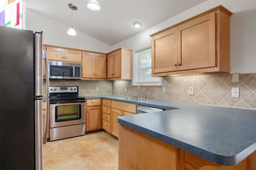
[[[132,85],[162,85],[162,78],[151,77],[151,47],[136,51],[133,59]]]

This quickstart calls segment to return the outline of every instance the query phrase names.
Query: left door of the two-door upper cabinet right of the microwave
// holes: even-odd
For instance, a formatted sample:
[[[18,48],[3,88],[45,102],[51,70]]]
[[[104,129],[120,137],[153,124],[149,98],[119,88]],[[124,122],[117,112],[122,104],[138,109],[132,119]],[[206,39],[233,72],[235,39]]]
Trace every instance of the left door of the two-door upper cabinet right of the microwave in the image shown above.
[[[94,78],[95,75],[95,54],[83,52],[82,77]]]

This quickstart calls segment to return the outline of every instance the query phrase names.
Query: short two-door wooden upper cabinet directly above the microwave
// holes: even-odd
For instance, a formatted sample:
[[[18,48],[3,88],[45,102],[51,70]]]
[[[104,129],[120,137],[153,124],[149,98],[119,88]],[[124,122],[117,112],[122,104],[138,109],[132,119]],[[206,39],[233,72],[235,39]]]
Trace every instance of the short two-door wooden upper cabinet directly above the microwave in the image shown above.
[[[46,51],[48,60],[74,63],[81,63],[82,61],[82,52],[78,50],[46,46]]]

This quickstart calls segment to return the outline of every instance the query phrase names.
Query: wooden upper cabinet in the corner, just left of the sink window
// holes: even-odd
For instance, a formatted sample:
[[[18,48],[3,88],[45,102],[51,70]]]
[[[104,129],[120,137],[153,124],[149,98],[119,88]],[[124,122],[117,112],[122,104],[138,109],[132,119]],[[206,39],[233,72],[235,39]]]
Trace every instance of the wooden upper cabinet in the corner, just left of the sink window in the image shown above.
[[[108,80],[132,80],[132,50],[120,48],[107,54]]]

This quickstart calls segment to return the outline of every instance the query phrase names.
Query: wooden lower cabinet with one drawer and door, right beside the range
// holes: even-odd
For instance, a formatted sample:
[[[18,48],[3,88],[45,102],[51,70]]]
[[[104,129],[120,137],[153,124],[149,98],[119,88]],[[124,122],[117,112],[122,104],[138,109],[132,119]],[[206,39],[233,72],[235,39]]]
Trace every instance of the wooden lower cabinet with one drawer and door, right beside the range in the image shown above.
[[[86,100],[86,131],[102,129],[101,99]]]

